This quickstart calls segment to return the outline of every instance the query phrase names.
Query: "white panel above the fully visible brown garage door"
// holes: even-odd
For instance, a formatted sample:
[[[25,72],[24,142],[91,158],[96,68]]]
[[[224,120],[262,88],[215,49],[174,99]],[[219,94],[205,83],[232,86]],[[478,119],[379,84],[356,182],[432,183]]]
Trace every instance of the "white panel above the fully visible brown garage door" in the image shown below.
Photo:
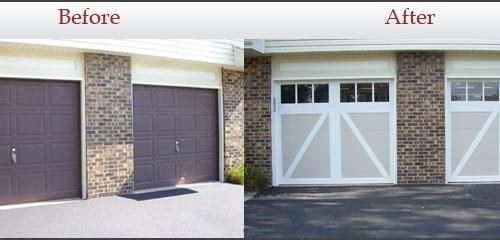
[[[222,88],[221,68],[132,58],[132,83],[158,86]]]

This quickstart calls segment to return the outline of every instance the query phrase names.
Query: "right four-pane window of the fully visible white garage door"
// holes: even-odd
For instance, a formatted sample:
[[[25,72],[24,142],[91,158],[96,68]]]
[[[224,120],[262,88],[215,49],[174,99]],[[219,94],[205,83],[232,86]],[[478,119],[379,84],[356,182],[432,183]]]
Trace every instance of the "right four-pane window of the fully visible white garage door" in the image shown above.
[[[389,102],[389,83],[341,83],[340,102]]]

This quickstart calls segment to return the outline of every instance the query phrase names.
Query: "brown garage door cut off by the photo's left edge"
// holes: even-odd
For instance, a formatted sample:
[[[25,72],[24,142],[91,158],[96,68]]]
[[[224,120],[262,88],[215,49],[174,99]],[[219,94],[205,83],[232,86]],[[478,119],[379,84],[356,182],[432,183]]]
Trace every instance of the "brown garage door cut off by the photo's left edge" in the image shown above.
[[[0,80],[0,204],[80,196],[79,84]]]

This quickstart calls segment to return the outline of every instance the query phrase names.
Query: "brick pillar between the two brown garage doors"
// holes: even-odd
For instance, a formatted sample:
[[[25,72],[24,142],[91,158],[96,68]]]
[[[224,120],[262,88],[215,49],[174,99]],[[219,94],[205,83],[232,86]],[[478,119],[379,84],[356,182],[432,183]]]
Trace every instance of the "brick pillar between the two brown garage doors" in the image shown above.
[[[130,57],[85,53],[87,193],[89,198],[133,190]]]

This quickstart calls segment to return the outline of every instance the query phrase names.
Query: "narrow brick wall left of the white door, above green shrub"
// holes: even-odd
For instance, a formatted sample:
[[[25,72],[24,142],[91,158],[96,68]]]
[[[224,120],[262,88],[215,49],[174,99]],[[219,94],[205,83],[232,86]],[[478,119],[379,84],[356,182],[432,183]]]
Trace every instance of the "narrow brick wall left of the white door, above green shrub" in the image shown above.
[[[245,59],[245,163],[271,183],[271,57]]]

